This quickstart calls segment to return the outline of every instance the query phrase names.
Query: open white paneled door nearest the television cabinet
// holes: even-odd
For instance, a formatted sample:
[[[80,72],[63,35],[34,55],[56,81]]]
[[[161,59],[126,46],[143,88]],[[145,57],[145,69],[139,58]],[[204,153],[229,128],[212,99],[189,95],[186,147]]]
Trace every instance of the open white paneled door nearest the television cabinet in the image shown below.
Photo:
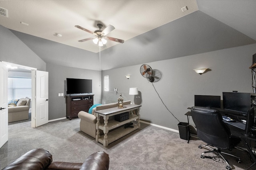
[[[32,70],[32,77],[35,75],[35,78],[32,80],[32,86],[35,86],[35,105],[32,108],[32,127],[38,127],[48,123],[48,72]],[[35,82],[33,82],[35,81]],[[32,92],[33,93],[33,92]],[[32,120],[31,119],[31,120]],[[34,124],[34,125],[33,125]]]

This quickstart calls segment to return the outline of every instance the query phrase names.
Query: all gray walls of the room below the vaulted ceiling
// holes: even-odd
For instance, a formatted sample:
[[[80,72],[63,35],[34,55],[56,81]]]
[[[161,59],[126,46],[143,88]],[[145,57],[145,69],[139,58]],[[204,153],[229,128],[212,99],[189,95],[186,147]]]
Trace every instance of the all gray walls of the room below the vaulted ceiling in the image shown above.
[[[109,75],[110,91],[104,92],[102,90],[104,87],[99,86],[99,71],[46,64],[11,31],[1,25],[0,37],[0,61],[49,72],[50,120],[65,117],[65,98],[58,97],[58,93],[65,92],[64,81],[67,77],[92,79],[94,103],[117,102],[120,93],[124,100],[133,100],[132,96],[128,95],[129,88],[137,87],[140,96],[136,98],[136,102],[142,104],[140,112],[142,120],[172,129],[178,129],[178,121],[161,103],[154,87],[168,109],[179,121],[184,122],[187,121],[184,113],[188,111],[187,107],[194,105],[195,94],[222,96],[222,92],[232,90],[252,92],[251,70],[248,67],[252,63],[252,55],[256,53],[256,44],[145,63],[155,70],[154,86],[141,76],[141,64],[105,70],[102,72],[102,78],[104,75]],[[156,50],[152,48],[144,51],[143,55],[150,55]],[[158,55],[166,55],[166,51],[161,50]],[[194,72],[195,68],[209,68],[209,70],[199,75]],[[125,78],[127,74],[132,75],[130,79]],[[114,92],[114,88],[118,88],[117,93]]]

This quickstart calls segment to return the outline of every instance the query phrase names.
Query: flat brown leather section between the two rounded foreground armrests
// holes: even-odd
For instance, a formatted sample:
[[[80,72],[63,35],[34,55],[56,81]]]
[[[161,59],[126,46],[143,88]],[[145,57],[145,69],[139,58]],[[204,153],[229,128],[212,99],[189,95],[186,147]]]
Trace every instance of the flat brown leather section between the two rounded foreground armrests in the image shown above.
[[[52,162],[47,170],[80,170],[82,163]]]

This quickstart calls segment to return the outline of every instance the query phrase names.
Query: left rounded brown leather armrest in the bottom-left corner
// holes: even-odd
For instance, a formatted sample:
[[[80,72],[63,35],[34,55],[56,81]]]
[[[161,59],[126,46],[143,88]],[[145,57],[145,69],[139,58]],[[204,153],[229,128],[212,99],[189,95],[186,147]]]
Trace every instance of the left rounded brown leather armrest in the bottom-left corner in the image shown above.
[[[52,154],[44,149],[33,149],[14,160],[2,170],[44,170],[52,162]]]

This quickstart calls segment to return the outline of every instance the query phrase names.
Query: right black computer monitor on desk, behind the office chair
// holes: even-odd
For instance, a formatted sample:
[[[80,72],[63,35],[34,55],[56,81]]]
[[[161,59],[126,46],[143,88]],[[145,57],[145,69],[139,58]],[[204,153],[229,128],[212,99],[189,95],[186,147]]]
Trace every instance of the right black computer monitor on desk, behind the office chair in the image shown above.
[[[246,115],[250,110],[250,93],[222,92],[223,109],[240,112]]]

